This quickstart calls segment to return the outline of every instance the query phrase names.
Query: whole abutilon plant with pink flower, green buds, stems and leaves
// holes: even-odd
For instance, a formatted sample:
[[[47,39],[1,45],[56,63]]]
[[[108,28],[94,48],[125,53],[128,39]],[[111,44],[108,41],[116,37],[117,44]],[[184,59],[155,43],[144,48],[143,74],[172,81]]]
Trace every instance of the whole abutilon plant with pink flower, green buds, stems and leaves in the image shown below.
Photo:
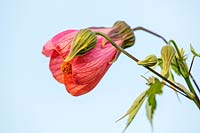
[[[134,32],[138,30],[150,33],[165,42],[161,48],[161,57],[150,54],[138,60],[125,50],[135,44]],[[126,129],[145,101],[147,118],[152,124],[157,106],[156,96],[163,93],[164,86],[193,101],[200,109],[197,94],[200,94],[200,89],[191,74],[194,59],[200,57],[200,54],[192,45],[190,49],[193,58],[188,67],[184,50],[179,49],[175,41],[167,41],[144,27],[131,28],[126,22],[117,21],[112,27],[89,27],[58,33],[43,46],[42,53],[50,57],[49,68],[53,77],[64,84],[67,92],[73,96],[80,96],[94,89],[120,53],[152,72],[151,77],[144,77],[148,89],[135,99],[127,113],[119,119],[128,116]],[[156,67],[160,67],[161,71],[156,71]],[[182,77],[187,87],[178,83],[175,75]]]

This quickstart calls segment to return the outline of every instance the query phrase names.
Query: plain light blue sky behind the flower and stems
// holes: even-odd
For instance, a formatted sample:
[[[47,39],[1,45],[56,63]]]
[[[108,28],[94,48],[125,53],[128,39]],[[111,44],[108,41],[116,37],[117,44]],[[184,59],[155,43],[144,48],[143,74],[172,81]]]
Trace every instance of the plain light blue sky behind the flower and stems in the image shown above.
[[[146,70],[120,58],[98,86],[73,97],[48,69],[42,46],[66,29],[112,26],[125,20],[144,26],[200,51],[198,0],[1,0],[0,2],[0,132],[1,133],[120,133],[126,119],[115,123],[147,86]],[[157,52],[163,42],[138,31],[129,49],[138,58]],[[200,83],[200,60],[193,69]],[[198,133],[200,113],[195,105],[168,88],[159,96],[154,133]],[[126,133],[151,133],[144,106]]]

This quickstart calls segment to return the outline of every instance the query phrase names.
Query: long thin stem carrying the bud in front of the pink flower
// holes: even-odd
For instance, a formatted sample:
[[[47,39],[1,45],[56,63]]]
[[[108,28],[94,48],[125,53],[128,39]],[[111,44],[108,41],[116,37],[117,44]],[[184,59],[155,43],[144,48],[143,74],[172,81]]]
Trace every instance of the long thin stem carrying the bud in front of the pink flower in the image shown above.
[[[117,50],[119,50],[120,52],[122,52],[123,54],[125,54],[126,56],[128,56],[129,58],[131,58],[132,60],[134,60],[135,62],[138,62],[139,60],[134,57],[133,55],[129,54],[127,51],[125,51],[123,48],[121,48],[120,46],[118,46],[112,39],[110,39],[106,34],[102,33],[102,32],[95,32],[96,35],[100,35],[102,37],[104,37],[106,40],[108,40]],[[166,81],[167,83],[169,83],[170,85],[172,85],[173,87],[175,87],[176,89],[173,88],[173,90],[177,91],[179,94],[187,97],[190,99],[190,97],[188,97],[182,90],[180,87],[178,87],[177,85],[175,85],[173,82],[171,82],[170,80],[166,79],[164,76],[162,76],[161,74],[159,74],[158,72],[156,72],[155,70],[153,70],[150,67],[144,66],[146,69],[148,69],[149,71],[151,71],[152,73],[154,73],[155,75],[157,75],[158,77],[160,77],[161,79],[163,79],[164,81]]]

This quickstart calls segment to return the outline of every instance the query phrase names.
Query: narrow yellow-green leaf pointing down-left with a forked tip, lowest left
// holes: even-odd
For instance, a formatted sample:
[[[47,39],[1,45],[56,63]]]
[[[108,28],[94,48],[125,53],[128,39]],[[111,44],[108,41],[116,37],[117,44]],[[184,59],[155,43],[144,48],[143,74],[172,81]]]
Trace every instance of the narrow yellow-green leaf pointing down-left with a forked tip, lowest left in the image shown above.
[[[123,119],[124,117],[128,116],[128,120],[126,123],[126,127],[124,128],[124,131],[128,128],[128,126],[131,124],[133,119],[135,118],[137,112],[139,111],[140,107],[144,103],[147,96],[147,91],[142,92],[133,102],[132,106],[129,108],[127,113],[123,115],[121,118],[119,118],[116,122]]]

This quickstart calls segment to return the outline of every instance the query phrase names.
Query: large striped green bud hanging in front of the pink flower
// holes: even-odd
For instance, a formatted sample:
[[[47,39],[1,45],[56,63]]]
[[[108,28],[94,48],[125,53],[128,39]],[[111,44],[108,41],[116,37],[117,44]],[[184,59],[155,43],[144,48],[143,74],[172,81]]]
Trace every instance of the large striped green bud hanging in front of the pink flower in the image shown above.
[[[77,55],[83,55],[93,49],[97,43],[97,36],[89,29],[80,30],[72,42],[71,50],[65,62],[69,62]]]

